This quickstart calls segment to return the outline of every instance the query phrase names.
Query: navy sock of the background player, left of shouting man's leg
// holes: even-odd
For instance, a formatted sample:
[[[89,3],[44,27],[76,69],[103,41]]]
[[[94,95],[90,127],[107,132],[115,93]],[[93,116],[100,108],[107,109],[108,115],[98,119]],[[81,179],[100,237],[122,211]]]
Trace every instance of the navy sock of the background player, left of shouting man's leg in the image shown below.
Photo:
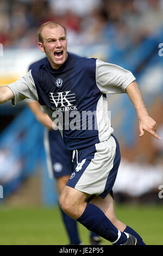
[[[66,213],[60,208],[60,206],[59,209],[61,211],[62,219],[64,221],[66,231],[70,239],[70,244],[79,245],[81,241],[79,239],[77,221],[72,219],[70,216],[66,215]]]

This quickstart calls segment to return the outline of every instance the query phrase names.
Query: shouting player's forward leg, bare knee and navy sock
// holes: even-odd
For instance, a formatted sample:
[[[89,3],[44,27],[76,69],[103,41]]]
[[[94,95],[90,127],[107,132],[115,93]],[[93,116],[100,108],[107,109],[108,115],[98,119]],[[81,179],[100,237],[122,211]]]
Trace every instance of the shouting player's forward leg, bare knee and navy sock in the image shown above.
[[[60,206],[67,215],[104,239],[115,245],[126,243],[128,236],[118,230],[99,207],[86,203],[89,197],[89,194],[66,186],[60,196]]]

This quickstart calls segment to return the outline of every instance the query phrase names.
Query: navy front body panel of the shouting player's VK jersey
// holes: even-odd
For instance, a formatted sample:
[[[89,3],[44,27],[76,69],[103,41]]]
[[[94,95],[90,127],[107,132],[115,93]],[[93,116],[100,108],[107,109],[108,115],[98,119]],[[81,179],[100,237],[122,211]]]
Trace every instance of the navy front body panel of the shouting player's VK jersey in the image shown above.
[[[76,143],[78,148],[98,143],[98,130],[93,129],[95,123],[92,124],[92,130],[82,130],[81,127],[82,111],[95,112],[101,97],[101,92],[96,86],[96,59],[86,59],[68,54],[66,62],[57,70],[53,69],[46,59],[43,59],[43,63],[39,62],[39,65],[35,64],[32,67],[32,76],[41,105],[61,112],[63,119],[65,119],[67,111],[69,116],[71,116],[70,112],[74,110],[80,113],[79,129],[71,130],[68,127],[65,130],[65,123],[63,123],[66,147],[71,150]],[[57,84],[59,79],[60,85]],[[95,122],[95,117],[93,116],[93,118]],[[70,117],[70,122],[71,120],[73,117]]]

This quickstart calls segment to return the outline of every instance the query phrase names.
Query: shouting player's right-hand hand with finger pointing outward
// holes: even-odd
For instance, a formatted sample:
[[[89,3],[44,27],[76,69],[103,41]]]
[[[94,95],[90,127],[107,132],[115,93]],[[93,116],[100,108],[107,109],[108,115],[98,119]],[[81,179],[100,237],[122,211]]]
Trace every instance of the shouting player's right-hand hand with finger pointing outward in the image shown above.
[[[156,139],[161,139],[160,136],[158,136],[155,132],[157,129],[157,124],[156,122],[153,120],[153,118],[151,118],[150,116],[144,116],[143,118],[141,118],[141,120],[139,120],[139,130],[140,130],[140,137],[143,136],[144,131],[150,133],[151,135],[153,135]]]

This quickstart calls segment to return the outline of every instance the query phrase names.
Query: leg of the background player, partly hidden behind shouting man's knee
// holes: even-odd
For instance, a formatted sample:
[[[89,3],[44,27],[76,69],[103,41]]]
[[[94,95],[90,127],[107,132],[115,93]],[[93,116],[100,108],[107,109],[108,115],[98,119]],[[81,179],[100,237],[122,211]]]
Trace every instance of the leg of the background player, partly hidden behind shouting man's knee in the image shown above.
[[[65,175],[57,178],[57,188],[58,188],[59,197],[69,178],[70,178],[70,175]],[[79,245],[81,241],[78,234],[76,220],[68,216],[64,211],[62,211],[60,206],[59,206],[59,209],[61,212],[62,220],[64,222],[68,237],[70,239],[70,245]]]

